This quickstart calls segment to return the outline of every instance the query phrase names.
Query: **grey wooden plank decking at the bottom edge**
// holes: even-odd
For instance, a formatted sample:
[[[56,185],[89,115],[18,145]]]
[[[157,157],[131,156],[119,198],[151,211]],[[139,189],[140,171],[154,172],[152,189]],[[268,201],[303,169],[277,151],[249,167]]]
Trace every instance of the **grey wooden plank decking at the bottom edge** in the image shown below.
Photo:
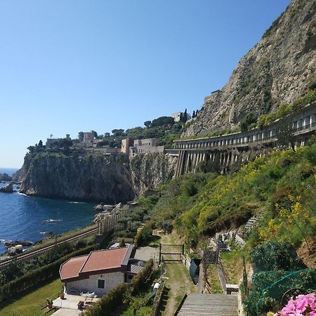
[[[238,298],[225,294],[188,294],[176,315],[238,316]]]

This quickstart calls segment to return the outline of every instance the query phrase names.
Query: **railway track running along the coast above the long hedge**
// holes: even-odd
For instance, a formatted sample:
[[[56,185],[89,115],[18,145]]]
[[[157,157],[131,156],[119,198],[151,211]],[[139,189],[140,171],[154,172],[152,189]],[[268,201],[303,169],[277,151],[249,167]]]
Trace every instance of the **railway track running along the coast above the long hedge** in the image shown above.
[[[77,235],[73,235],[73,236],[67,237],[65,239],[60,239],[57,243],[54,242],[53,244],[48,244],[48,245],[42,246],[41,248],[38,248],[38,249],[22,252],[22,254],[18,254],[12,258],[6,258],[5,260],[0,261],[0,269],[3,268],[5,265],[8,265],[9,263],[11,263],[13,260],[20,261],[20,260],[25,260],[27,258],[32,258],[32,256],[36,256],[38,254],[44,253],[45,251],[53,248],[56,245],[65,244],[65,242],[72,242],[75,239],[78,239],[81,237],[86,237],[88,235],[92,235],[92,234],[97,233],[97,232],[98,232],[98,227],[95,226],[89,230],[86,230],[84,232],[80,232]]]

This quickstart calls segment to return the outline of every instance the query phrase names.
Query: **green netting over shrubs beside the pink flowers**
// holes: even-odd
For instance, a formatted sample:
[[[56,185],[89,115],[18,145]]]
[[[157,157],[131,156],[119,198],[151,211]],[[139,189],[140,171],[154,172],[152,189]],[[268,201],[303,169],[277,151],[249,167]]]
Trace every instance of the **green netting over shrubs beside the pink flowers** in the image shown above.
[[[316,289],[316,269],[264,271],[252,277],[251,294],[244,301],[249,316],[266,315],[281,308],[283,294],[289,289]]]

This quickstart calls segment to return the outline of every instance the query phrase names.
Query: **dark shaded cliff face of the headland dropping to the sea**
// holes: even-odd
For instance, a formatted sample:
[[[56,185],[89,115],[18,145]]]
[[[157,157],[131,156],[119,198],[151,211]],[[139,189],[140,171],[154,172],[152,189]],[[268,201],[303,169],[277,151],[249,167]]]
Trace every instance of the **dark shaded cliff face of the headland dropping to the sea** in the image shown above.
[[[126,157],[43,154],[25,159],[22,169],[26,195],[109,203],[135,196]]]

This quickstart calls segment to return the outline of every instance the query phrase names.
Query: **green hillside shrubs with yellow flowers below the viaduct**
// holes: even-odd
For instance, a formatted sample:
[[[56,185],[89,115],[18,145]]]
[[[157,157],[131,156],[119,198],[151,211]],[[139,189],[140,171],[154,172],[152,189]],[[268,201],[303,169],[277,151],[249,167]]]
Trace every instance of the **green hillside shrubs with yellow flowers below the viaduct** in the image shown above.
[[[251,232],[251,246],[269,240],[298,246],[316,232],[316,143],[274,151],[254,159],[240,171],[186,174],[157,188],[141,204],[164,230],[175,227],[187,247],[199,237],[237,228],[256,214],[261,225]],[[146,206],[147,203],[147,206]]]

